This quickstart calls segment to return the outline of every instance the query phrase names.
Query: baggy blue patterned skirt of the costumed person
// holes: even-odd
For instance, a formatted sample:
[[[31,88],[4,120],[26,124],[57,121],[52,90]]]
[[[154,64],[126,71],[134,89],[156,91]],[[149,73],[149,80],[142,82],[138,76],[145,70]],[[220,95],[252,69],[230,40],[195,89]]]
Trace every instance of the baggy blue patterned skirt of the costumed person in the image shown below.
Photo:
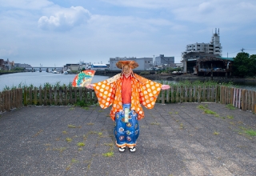
[[[123,110],[115,114],[114,136],[116,145],[135,146],[139,135],[138,114],[130,110],[130,104],[123,104]],[[125,109],[128,108],[128,119],[125,119]]]

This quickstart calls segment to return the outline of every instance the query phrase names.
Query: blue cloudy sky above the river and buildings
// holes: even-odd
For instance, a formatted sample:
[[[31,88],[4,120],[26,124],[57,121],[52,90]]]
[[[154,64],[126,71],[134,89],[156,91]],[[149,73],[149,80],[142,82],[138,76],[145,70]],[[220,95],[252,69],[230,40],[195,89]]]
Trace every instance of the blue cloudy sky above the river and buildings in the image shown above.
[[[256,54],[255,0],[0,0],[0,58],[31,66],[174,56],[210,42]]]

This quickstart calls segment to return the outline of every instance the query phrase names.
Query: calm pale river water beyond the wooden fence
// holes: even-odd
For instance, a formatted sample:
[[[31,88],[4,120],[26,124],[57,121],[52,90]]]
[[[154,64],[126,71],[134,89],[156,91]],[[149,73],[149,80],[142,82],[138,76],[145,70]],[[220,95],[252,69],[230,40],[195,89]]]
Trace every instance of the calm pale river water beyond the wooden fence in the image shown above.
[[[47,72],[24,72],[17,74],[2,74],[0,75],[0,91],[4,90],[6,87],[12,88],[14,86],[43,86],[46,82],[51,85],[55,85],[57,82],[60,85],[70,84],[73,82],[75,74],[52,74]],[[98,76],[94,75],[92,83],[101,82],[110,78],[108,76]],[[158,80],[155,80],[158,82]],[[176,83],[178,81],[168,81]],[[240,88],[246,90],[255,90],[256,91],[256,82],[234,82],[235,85],[239,85]]]

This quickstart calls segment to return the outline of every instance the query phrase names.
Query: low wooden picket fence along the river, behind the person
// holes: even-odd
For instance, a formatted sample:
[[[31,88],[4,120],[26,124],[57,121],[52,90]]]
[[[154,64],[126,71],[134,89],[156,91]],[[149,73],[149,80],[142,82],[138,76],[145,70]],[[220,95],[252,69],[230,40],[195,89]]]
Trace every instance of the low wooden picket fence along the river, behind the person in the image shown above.
[[[256,113],[256,92],[227,86],[171,86],[158,95],[158,103],[216,102]],[[0,111],[22,106],[87,106],[97,103],[94,90],[84,87],[31,87],[0,92]]]

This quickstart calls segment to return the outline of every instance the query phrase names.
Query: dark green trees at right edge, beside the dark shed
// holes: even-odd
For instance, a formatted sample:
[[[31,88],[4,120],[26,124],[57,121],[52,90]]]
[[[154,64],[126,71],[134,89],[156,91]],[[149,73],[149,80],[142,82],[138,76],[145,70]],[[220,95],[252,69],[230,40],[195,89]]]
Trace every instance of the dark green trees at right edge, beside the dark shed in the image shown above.
[[[238,53],[234,58],[234,75],[239,77],[254,76],[256,74],[256,54]]]

